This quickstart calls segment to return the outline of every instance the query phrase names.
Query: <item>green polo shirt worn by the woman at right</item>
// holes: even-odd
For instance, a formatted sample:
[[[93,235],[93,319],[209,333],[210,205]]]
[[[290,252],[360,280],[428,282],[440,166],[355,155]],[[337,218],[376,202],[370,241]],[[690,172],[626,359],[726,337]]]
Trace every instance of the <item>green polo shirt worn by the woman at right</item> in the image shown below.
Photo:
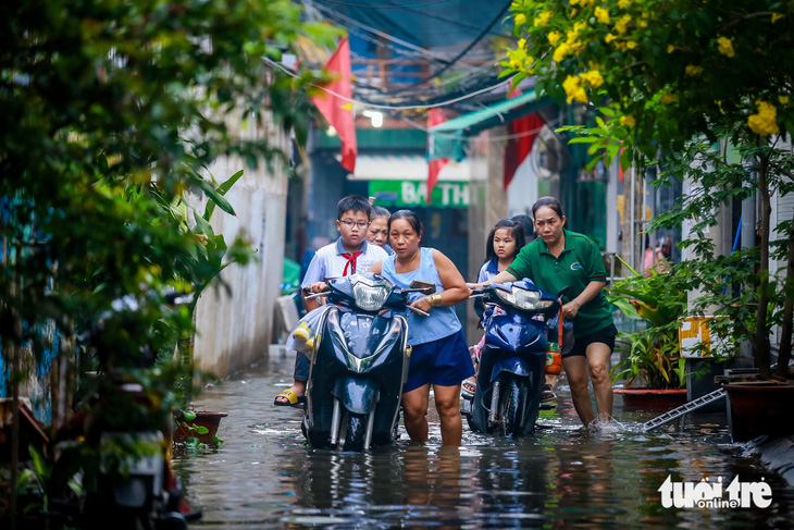
[[[538,237],[521,249],[507,271],[517,279],[529,278],[551,295],[570,287],[565,304],[579,296],[591,282],[606,282],[601,252],[587,236],[565,231],[566,248],[555,258]],[[573,319],[573,336],[585,336],[612,323],[612,312],[604,292],[579,308]]]

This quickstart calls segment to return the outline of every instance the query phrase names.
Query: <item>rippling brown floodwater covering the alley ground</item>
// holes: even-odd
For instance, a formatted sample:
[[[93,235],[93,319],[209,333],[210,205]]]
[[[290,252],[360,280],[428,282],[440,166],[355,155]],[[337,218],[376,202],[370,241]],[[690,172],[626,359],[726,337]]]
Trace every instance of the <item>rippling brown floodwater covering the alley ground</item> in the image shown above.
[[[364,454],[309,447],[302,411],[274,407],[291,381],[291,356],[275,355],[206,390],[198,409],[228,412],[215,449],[175,457],[187,501],[203,510],[193,529],[792,528],[794,489],[767,470],[752,445],[730,442],[724,414],[688,417],[683,430],[640,432],[657,412],[623,410],[616,424],[580,428],[561,380],[557,408],[533,436],[473,434],[442,447],[431,406],[431,441],[401,440]],[[662,506],[658,491],[708,477],[728,489],[764,481],[766,508]],[[747,484],[748,485],[748,484]],[[725,492],[723,498],[728,500]]]

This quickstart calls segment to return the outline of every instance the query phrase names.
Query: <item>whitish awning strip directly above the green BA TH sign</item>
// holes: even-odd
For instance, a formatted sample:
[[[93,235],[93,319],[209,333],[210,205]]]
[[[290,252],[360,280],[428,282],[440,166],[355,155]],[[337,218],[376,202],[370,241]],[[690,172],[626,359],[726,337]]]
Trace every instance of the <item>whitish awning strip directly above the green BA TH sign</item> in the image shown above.
[[[468,181],[469,162],[450,162],[438,174],[439,181]],[[425,181],[427,160],[418,155],[359,155],[351,181]]]

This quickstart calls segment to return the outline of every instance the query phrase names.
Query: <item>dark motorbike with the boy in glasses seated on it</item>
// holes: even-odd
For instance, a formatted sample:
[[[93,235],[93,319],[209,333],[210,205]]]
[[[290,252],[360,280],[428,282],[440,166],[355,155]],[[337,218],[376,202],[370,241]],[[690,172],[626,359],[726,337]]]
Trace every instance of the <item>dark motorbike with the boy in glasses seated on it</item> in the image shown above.
[[[302,431],[312,447],[367,451],[396,439],[402,384],[408,377],[407,310],[410,293],[432,294],[433,284],[414,282],[407,289],[372,273],[328,281],[307,352]]]

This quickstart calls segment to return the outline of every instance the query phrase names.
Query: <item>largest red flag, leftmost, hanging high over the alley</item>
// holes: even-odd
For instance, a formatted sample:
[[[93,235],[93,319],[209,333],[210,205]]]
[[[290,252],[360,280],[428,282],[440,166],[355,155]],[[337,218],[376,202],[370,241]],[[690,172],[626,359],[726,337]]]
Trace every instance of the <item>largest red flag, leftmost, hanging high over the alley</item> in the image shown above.
[[[342,39],[325,70],[335,74],[322,94],[311,98],[320,113],[336,130],[342,140],[342,167],[350,173],[356,169],[358,145],[356,143],[356,123],[352,115],[352,90],[350,89],[350,44],[347,37]]]

